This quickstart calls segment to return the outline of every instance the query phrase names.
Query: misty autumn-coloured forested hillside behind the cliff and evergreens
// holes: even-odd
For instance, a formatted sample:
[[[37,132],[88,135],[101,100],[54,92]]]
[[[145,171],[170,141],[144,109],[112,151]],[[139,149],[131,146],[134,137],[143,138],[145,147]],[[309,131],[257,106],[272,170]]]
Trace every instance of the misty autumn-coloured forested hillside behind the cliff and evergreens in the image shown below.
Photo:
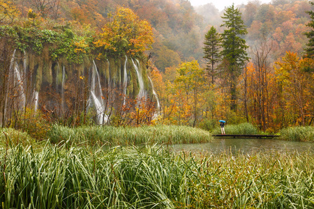
[[[101,29],[108,15],[117,6],[126,6],[154,28],[155,43],[151,57],[158,70],[176,66],[181,61],[197,59],[202,62],[202,42],[204,34],[215,26],[223,31],[221,16],[213,5],[207,4],[193,8],[186,0],[14,0],[22,17],[27,17],[29,8],[42,17],[54,20],[75,20],[81,24],[91,24]],[[226,5],[230,6],[230,5]],[[245,39],[253,47],[262,36],[274,40],[276,57],[286,51],[301,53],[306,45],[304,32],[311,10],[308,1],[272,1],[261,4],[251,1],[239,6],[248,34]]]

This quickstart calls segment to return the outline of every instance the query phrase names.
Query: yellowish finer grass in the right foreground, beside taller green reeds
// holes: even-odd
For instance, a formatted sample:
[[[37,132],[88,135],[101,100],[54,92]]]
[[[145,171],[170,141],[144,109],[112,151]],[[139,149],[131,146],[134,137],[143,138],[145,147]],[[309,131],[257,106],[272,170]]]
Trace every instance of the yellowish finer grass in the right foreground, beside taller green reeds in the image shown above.
[[[204,208],[313,208],[313,154],[211,155],[195,181]]]

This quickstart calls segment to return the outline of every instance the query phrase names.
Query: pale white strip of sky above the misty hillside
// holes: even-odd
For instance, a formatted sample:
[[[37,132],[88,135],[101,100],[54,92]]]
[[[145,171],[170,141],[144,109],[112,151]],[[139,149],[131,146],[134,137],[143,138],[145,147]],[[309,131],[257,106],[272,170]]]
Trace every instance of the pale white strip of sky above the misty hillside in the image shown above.
[[[201,6],[207,3],[213,3],[214,6],[216,6],[216,8],[218,8],[218,10],[224,10],[225,7],[231,6],[232,3],[234,3],[235,6],[241,4],[241,3],[248,3],[248,1],[251,0],[189,0],[190,4],[192,4],[192,6]],[[269,3],[271,2],[271,0],[260,0],[261,3]]]

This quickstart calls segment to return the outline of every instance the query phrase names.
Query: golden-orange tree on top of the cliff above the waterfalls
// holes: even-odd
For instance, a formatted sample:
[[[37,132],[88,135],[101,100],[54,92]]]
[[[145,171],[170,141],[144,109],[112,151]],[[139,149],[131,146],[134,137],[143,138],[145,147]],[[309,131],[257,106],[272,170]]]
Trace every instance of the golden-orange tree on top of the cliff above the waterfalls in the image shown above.
[[[118,7],[109,22],[103,27],[95,46],[113,54],[134,56],[151,48],[154,42],[151,25],[140,20],[133,10]]]

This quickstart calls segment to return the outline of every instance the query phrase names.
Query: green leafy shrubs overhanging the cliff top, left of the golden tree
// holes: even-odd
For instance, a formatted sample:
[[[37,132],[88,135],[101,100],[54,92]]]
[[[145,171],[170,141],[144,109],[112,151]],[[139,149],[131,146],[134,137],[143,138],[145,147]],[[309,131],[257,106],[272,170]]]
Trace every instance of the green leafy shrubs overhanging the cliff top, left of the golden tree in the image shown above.
[[[0,26],[1,37],[15,40],[15,48],[22,52],[31,51],[38,55],[49,47],[52,60],[65,56],[69,63],[82,63],[85,54],[91,53],[92,38],[79,36],[71,29],[52,31],[50,29],[23,28],[21,26]]]

